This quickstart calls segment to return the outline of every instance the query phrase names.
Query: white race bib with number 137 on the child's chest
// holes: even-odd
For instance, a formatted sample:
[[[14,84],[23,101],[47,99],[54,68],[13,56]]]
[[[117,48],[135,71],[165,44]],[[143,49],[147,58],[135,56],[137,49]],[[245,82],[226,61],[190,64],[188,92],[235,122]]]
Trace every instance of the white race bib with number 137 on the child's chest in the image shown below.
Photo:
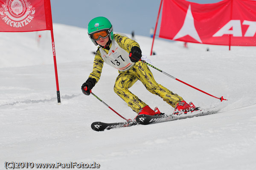
[[[112,40],[112,45],[108,54],[102,49],[102,47],[99,48],[99,52],[105,63],[121,72],[130,69],[134,65],[134,62],[131,62],[129,58],[128,52],[122,49],[118,43],[116,43],[115,39]]]

